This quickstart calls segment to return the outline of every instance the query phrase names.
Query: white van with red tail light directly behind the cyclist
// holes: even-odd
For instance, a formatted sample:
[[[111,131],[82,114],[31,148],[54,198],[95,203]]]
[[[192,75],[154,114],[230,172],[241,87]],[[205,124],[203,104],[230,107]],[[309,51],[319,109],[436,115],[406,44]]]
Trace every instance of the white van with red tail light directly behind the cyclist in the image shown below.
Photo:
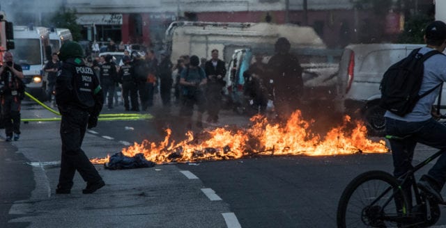
[[[363,117],[369,133],[382,136],[385,110],[378,106],[380,81],[388,67],[426,44],[351,44],[344,49],[337,75],[337,107]],[[442,101],[446,101],[443,87]]]

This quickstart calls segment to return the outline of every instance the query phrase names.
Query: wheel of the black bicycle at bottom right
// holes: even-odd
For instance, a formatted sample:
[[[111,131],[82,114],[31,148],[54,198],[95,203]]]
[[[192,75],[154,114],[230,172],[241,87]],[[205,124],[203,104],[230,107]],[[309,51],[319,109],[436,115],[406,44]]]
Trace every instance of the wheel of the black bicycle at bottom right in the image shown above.
[[[353,179],[342,193],[337,227],[397,227],[407,213],[397,179],[387,172],[369,171]]]

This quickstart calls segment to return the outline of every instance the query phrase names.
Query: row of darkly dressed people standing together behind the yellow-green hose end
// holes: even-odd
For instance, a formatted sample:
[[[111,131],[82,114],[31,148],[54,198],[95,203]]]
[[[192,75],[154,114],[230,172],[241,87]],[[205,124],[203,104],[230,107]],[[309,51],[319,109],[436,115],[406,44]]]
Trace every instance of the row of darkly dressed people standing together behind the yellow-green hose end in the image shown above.
[[[202,127],[205,111],[208,111],[207,122],[217,123],[222,108],[222,88],[226,84],[226,67],[219,58],[219,51],[212,50],[212,58],[202,61],[201,65],[198,56],[181,56],[173,65],[166,51],[158,54],[160,60],[153,50],[133,51],[132,54],[125,51],[120,65],[116,65],[111,55],[93,61],[107,108],[114,108],[114,90],[121,83],[125,111],[147,111],[154,105],[154,95],[159,91],[165,110],[170,111],[174,95],[175,104],[180,106],[180,116],[192,116],[193,107],[197,105],[198,127]]]

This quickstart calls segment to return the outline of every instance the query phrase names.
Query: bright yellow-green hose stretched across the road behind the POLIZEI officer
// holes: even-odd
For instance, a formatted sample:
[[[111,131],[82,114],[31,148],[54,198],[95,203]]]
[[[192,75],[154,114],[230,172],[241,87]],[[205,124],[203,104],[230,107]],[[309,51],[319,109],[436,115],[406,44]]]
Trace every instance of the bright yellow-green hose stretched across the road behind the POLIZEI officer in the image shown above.
[[[47,109],[48,111],[56,114],[61,115],[58,111],[55,111],[54,109],[50,108],[46,104],[43,104],[42,101],[39,101],[36,97],[33,97],[33,95],[30,95],[28,92],[25,91],[25,95],[32,99],[33,101],[36,101],[37,104],[40,104],[40,106],[43,106],[43,108]],[[100,114],[98,117],[98,120],[107,121],[107,120],[150,120],[153,119],[153,115],[151,114],[139,114],[139,113],[104,113]],[[32,119],[22,119],[23,122],[31,122],[31,121],[60,121],[60,117],[53,117],[53,118],[32,118]]]

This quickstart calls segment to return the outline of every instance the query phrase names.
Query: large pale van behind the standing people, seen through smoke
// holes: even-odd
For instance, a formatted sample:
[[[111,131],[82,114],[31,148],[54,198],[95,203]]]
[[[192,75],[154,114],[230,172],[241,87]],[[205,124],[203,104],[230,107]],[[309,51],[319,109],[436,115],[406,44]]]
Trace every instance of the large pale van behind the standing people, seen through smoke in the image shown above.
[[[227,67],[224,92],[229,103],[243,112],[243,72],[253,61],[254,53],[265,54],[265,61],[274,54],[278,38],[287,38],[291,52],[298,55],[306,74],[308,97],[320,95],[321,99],[334,97],[331,79],[337,71],[341,50],[327,49],[316,31],[309,26],[271,23],[221,23],[221,22],[173,22],[165,35],[171,61],[182,55],[197,55],[210,59],[210,51],[217,49]],[[317,59],[317,60],[316,60]],[[318,91],[318,92],[316,92]],[[324,97],[324,98],[323,98]],[[330,98],[328,98],[330,97]]]

